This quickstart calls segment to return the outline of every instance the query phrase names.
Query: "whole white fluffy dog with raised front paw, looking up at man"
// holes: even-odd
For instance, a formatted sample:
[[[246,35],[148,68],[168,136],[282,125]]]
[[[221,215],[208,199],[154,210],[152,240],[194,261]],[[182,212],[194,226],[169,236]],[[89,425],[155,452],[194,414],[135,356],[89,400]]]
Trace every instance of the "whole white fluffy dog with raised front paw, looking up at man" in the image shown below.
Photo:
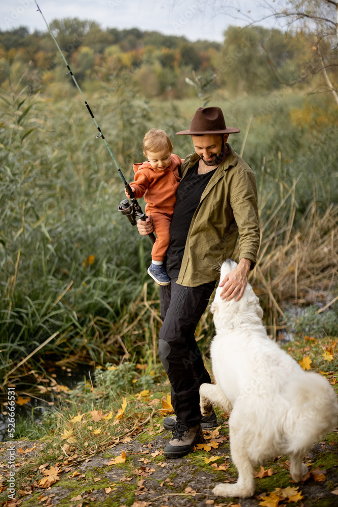
[[[228,259],[222,280],[237,266]],[[263,311],[249,283],[239,301],[222,301],[217,288],[211,305],[216,336],[211,343],[216,384],[200,387],[201,412],[212,404],[229,418],[230,449],[239,473],[236,484],[217,484],[219,496],[252,496],[253,466],[279,454],[290,456],[290,474],[302,480],[310,446],[337,422],[338,404],[329,382],[304,372],[294,359],[269,339]]]

